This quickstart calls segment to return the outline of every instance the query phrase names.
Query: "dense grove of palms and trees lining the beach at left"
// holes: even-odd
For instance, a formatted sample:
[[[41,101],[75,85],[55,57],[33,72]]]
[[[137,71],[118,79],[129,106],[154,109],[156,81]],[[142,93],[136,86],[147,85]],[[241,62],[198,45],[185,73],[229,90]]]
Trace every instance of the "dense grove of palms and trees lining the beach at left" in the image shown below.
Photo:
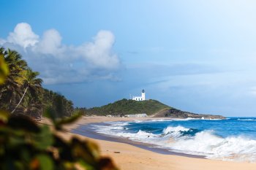
[[[41,117],[46,108],[52,107],[59,117],[70,116],[72,101],[51,90],[42,88],[39,72],[29,68],[15,50],[0,48],[0,64],[6,63],[10,74],[0,85],[0,108],[9,112]],[[7,72],[6,69],[1,71]],[[0,74],[1,74],[0,72]]]

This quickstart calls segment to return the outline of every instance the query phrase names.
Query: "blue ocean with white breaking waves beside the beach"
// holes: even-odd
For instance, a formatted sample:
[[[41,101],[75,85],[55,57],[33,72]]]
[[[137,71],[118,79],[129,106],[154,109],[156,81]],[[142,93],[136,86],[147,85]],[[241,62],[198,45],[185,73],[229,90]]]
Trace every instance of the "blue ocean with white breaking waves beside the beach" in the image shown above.
[[[94,124],[99,134],[223,161],[256,163],[256,117],[135,120]]]

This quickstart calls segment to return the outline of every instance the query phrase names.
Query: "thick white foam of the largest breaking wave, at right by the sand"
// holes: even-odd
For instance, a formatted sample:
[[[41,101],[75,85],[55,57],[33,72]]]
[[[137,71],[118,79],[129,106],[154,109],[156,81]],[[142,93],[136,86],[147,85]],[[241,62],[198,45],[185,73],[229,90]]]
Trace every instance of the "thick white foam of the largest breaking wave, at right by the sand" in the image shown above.
[[[201,131],[190,139],[176,139],[171,149],[206,158],[228,161],[256,161],[256,141],[242,136],[222,138],[213,131]]]

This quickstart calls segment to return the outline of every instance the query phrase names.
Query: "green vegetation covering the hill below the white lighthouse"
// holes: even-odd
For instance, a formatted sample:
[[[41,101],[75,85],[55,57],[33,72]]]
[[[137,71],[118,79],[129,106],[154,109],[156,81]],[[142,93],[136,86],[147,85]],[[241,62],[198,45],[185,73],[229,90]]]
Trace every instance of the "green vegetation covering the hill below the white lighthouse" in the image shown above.
[[[116,101],[113,104],[107,104],[102,107],[93,107],[91,109],[85,109],[86,115],[116,115],[124,116],[129,114],[146,113],[147,115],[153,115],[162,109],[170,109],[165,104],[162,104],[156,100],[146,101],[133,101],[122,99]]]

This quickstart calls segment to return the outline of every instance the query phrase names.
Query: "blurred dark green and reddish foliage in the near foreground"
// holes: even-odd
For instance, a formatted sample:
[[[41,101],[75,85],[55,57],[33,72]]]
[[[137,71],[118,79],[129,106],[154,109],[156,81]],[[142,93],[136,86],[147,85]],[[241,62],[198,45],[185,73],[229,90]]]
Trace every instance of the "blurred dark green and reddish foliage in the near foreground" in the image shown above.
[[[49,113],[49,115],[53,115]],[[55,131],[80,115],[56,120]],[[53,118],[53,117],[52,117]],[[69,141],[39,126],[25,115],[0,112],[0,169],[116,169],[110,158],[100,156],[94,142],[73,137]]]

